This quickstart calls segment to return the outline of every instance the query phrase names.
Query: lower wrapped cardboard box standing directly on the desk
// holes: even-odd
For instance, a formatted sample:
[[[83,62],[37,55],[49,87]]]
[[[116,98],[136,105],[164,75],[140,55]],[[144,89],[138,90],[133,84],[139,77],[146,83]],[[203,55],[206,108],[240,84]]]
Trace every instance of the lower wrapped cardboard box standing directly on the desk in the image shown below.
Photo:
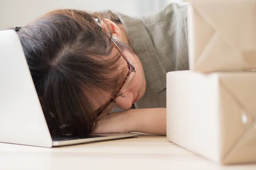
[[[256,72],[167,73],[167,138],[220,164],[256,162]]]

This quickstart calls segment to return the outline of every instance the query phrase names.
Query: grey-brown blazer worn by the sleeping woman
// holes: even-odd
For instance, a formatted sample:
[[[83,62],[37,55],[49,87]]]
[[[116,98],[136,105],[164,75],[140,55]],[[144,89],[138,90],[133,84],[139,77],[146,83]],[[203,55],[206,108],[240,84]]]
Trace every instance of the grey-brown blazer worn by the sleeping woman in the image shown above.
[[[189,70],[187,7],[186,3],[171,3],[142,18],[116,13],[145,71],[146,92],[135,108],[165,108],[166,73]]]

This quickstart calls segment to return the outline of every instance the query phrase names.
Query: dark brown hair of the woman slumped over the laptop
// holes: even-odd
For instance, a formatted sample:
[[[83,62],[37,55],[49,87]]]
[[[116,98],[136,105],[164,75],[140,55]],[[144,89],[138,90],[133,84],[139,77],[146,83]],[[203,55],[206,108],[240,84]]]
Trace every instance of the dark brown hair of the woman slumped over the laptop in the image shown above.
[[[93,105],[122,82],[114,74],[120,56],[111,57],[113,45],[93,19],[106,14],[55,10],[17,31],[51,133],[92,133]]]

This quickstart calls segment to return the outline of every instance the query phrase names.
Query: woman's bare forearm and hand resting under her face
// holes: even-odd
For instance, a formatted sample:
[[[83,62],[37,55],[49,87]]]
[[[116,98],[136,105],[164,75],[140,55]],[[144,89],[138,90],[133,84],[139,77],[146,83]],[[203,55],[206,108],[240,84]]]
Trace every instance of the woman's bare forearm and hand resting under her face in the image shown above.
[[[95,133],[141,132],[166,135],[166,108],[131,109],[111,113],[99,121]]]

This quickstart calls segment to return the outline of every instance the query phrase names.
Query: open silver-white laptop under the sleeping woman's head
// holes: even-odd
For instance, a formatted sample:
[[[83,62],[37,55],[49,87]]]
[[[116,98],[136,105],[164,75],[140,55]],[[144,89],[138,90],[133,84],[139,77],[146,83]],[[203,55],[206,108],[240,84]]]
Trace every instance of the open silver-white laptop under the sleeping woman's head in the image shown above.
[[[51,136],[20,39],[14,30],[0,31],[0,142],[57,147],[138,135]]]

